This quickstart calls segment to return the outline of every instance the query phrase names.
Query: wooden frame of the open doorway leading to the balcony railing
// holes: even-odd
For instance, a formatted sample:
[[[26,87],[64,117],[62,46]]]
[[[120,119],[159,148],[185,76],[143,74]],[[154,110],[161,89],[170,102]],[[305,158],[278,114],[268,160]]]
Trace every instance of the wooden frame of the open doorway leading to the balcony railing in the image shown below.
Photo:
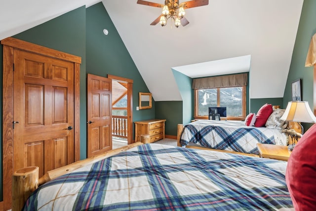
[[[134,143],[133,140],[133,79],[123,78],[116,75],[108,74],[108,78],[112,80],[127,83],[127,144]]]

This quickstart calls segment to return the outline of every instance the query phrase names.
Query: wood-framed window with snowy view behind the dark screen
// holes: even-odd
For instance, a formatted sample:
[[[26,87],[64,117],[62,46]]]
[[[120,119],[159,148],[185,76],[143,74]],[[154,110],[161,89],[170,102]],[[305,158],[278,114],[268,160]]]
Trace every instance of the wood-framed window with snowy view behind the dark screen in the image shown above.
[[[246,86],[195,89],[195,118],[207,119],[208,107],[225,106],[227,118],[244,120]]]

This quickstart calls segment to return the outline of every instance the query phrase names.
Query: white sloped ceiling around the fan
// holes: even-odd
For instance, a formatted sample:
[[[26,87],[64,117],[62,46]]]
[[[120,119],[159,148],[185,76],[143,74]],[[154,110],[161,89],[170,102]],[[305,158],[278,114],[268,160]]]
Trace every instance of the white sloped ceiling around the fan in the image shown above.
[[[0,7],[0,39],[97,2],[6,0]],[[250,67],[250,98],[283,97],[303,0],[209,0],[187,9],[190,24],[178,29],[170,22],[150,26],[160,8],[137,0],[102,2],[155,101],[181,100],[172,68],[196,77],[208,70],[210,75],[244,71],[238,64]]]

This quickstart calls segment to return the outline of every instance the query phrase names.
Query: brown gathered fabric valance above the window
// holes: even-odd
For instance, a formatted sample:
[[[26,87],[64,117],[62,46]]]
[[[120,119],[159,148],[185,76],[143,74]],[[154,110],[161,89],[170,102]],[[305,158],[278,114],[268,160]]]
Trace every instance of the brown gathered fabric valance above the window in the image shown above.
[[[248,74],[232,74],[212,76],[205,78],[194,78],[192,89],[211,89],[220,87],[246,86],[248,84]]]

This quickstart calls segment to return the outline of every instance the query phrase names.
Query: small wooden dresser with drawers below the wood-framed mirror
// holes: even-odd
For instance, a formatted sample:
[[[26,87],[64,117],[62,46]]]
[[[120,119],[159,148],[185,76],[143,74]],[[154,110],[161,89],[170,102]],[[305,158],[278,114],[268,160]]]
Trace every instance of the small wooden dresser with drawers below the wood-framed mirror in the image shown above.
[[[149,142],[155,142],[164,139],[164,122],[165,119],[149,119],[137,121],[135,123],[135,142],[140,141],[140,136],[149,134]]]

